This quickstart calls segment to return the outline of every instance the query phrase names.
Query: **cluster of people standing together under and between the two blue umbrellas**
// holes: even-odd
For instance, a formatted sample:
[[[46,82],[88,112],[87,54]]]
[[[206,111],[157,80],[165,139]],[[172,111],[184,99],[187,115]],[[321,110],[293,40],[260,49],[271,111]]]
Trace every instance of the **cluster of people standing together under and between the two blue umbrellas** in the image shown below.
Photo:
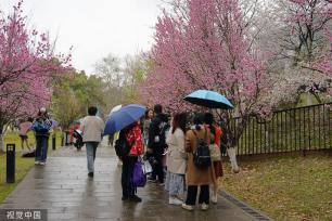
[[[126,139],[131,147],[129,154],[122,158],[122,199],[142,200],[136,195],[131,178],[135,162],[144,154],[153,168],[149,180],[165,185],[170,205],[193,210],[200,190],[199,204],[202,210],[207,210],[209,202],[217,203],[217,179],[222,177],[221,158],[215,159],[208,167],[197,167],[194,154],[200,141],[220,148],[221,135],[222,130],[210,113],[195,114],[189,122],[187,113],[175,113],[169,120],[163,114],[162,105],[148,109],[141,123],[135,122],[120,131],[119,139]]]

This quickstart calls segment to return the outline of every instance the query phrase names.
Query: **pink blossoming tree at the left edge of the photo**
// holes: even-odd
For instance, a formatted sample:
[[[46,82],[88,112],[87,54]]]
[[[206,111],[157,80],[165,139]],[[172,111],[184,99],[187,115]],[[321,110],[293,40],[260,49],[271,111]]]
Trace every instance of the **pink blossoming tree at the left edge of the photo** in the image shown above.
[[[33,116],[50,102],[52,78],[66,68],[71,55],[54,55],[48,35],[28,29],[23,1],[0,20],[0,147],[3,127]]]

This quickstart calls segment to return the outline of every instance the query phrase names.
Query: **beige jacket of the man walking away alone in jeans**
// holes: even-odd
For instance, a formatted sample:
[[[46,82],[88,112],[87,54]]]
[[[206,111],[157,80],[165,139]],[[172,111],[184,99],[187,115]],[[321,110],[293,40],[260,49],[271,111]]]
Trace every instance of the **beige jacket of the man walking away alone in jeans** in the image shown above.
[[[98,116],[87,116],[80,128],[84,142],[101,142],[104,132],[104,121]]]

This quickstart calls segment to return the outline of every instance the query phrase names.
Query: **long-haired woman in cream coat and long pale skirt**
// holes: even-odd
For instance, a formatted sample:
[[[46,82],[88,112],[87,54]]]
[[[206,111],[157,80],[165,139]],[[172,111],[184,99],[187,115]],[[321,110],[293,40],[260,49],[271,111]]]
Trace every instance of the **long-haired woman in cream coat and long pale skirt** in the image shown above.
[[[169,192],[168,203],[171,205],[181,205],[180,195],[186,191],[186,113],[176,114],[171,120],[171,127],[166,139],[168,153],[166,158],[167,174],[165,190]]]

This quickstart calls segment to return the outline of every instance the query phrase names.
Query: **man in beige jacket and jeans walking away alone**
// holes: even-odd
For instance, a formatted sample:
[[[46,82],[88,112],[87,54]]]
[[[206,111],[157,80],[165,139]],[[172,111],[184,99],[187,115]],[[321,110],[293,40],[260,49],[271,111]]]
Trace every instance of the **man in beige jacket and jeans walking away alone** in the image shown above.
[[[102,141],[102,134],[104,131],[104,121],[95,116],[97,107],[90,106],[88,109],[88,116],[85,117],[80,125],[80,131],[82,131],[82,141],[87,148],[87,160],[88,160],[88,176],[93,178],[94,172],[94,159],[95,152],[99,143]]]

